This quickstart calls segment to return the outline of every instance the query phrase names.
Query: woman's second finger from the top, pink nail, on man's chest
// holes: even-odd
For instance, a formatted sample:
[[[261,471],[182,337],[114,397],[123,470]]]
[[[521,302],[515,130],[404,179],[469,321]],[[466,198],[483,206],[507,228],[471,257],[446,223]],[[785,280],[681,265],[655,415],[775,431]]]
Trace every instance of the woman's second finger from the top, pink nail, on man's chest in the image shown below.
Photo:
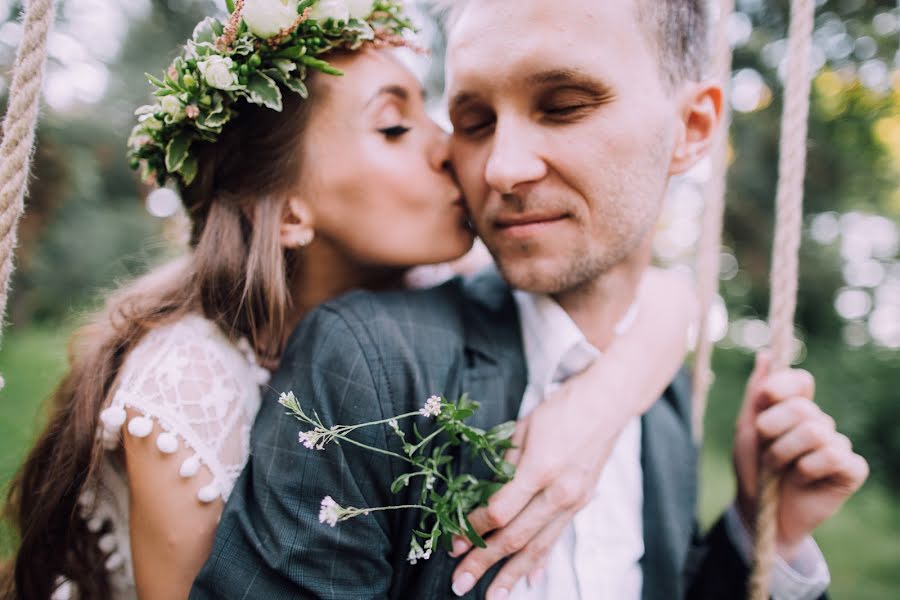
[[[453,592],[459,596],[468,593],[491,567],[520,552],[559,518],[559,512],[554,510],[546,493],[539,494],[513,522],[485,540],[487,548],[473,548],[457,565],[453,573]]]

